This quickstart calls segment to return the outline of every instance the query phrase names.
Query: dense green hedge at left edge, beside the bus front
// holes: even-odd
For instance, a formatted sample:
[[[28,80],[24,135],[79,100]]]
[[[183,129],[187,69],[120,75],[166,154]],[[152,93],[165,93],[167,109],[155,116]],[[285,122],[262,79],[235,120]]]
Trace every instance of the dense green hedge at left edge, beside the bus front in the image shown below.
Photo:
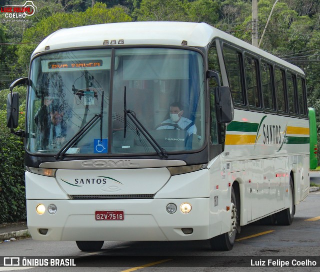
[[[20,96],[18,129],[24,129],[25,87],[14,89]],[[10,134],[6,127],[6,97],[0,92],[0,223],[23,221],[26,218],[24,188],[23,139]]]

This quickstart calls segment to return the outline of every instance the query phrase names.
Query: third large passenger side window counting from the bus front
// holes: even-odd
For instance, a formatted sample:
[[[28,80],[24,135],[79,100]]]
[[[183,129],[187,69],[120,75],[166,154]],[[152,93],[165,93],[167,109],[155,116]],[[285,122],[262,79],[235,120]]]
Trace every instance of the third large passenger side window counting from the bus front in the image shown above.
[[[272,90],[272,67],[271,65],[261,61],[260,70],[264,108],[274,110],[274,99]]]

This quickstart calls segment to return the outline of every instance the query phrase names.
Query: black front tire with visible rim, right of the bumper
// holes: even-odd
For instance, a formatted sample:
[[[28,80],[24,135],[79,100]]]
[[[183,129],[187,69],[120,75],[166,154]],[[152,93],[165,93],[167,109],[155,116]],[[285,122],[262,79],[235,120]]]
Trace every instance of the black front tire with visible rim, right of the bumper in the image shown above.
[[[231,190],[231,231],[220,234],[216,237],[209,239],[212,250],[215,251],[229,251],[232,250],[235,240],[236,228],[237,228],[237,209],[236,209],[236,197],[232,187]]]

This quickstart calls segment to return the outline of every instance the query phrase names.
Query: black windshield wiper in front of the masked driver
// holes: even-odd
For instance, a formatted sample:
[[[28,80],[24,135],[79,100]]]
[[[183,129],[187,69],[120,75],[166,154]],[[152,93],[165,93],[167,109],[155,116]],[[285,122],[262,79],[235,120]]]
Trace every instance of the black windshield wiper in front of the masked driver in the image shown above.
[[[167,158],[168,154],[166,153],[166,150],[162,148],[157,141],[151,136],[151,134],[147,131],[147,129],[140,123],[140,121],[136,118],[134,111],[126,109],[126,87],[124,86],[124,135],[123,138],[125,138],[126,133],[126,116],[129,117],[129,119],[132,121],[132,123],[135,125],[135,127],[142,133],[144,138],[150,143],[150,145],[153,147],[155,152],[158,154],[160,158]],[[148,136],[148,137],[147,137]]]

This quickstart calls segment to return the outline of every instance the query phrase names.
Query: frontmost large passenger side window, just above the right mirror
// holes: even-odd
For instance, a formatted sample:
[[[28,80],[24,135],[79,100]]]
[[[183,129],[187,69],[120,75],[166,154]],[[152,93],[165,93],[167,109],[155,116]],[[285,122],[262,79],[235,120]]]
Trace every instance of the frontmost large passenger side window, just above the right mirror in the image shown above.
[[[230,47],[223,46],[223,57],[233,101],[235,104],[244,105],[241,79],[241,53]]]

